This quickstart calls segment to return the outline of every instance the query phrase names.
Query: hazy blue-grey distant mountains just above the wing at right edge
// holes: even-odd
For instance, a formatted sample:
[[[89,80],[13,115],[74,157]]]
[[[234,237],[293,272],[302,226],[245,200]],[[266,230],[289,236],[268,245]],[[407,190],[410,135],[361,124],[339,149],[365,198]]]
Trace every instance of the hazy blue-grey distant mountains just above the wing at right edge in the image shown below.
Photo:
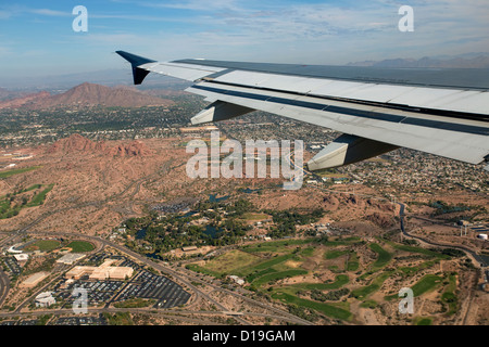
[[[389,59],[384,61],[364,61],[349,63],[348,66],[377,66],[377,67],[426,67],[426,68],[489,68],[489,56],[457,56],[451,59]]]

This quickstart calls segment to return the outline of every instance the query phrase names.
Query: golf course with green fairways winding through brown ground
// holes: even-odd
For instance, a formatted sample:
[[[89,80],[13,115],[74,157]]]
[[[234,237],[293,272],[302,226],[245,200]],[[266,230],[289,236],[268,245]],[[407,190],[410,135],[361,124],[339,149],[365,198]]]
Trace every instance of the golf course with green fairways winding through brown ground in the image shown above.
[[[364,250],[369,253],[367,257],[363,255]],[[394,256],[396,259],[402,257],[408,261],[401,267],[391,267],[389,265]],[[398,298],[396,287],[390,286],[410,279],[417,279],[414,284],[412,280],[410,282],[414,296],[441,288],[439,298],[447,309],[446,314],[456,312],[455,274],[424,274],[419,278],[421,273],[434,268],[446,257],[435,250],[380,239],[365,242],[355,236],[324,237],[253,244],[240,250],[230,250],[202,267],[188,268],[216,277],[237,274],[246,279],[248,290],[268,298],[311,309],[333,319],[351,321],[352,303],[365,309],[383,308],[385,301]],[[364,264],[367,259],[373,260]],[[333,271],[336,279],[327,277],[325,282],[317,281],[319,274],[324,275],[325,269]],[[359,272],[359,269],[362,271]],[[280,284],[288,278],[293,279]],[[387,286],[387,282],[391,284]],[[376,296],[380,292],[384,300]],[[432,318],[422,317],[412,322],[429,325],[432,324]]]

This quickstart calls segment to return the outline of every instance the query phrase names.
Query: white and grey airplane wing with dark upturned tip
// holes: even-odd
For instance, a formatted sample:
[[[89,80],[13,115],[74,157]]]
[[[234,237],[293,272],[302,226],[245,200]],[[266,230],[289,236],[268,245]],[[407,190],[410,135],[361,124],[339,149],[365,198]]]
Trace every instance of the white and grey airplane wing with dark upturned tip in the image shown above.
[[[342,132],[308,163],[311,170],[398,147],[469,164],[489,162],[489,69],[156,62],[117,53],[131,64],[136,85],[149,73],[192,81],[187,91],[211,102],[192,124],[260,110]]]

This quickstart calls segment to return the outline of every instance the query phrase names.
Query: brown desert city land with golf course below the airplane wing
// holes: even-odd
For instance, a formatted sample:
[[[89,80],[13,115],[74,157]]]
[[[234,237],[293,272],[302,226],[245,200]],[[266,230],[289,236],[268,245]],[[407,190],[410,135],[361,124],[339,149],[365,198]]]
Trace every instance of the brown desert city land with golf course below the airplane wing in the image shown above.
[[[190,179],[185,145],[215,129],[304,139],[305,157],[337,134],[260,112],[189,126],[204,102],[164,88],[1,102],[1,324],[488,323],[481,166],[401,149],[296,191]]]

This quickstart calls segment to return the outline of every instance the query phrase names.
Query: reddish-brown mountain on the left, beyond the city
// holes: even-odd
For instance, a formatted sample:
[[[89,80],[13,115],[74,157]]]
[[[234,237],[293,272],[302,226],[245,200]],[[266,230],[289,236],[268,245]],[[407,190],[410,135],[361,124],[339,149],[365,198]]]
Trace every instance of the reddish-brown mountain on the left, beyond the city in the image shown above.
[[[61,106],[170,106],[172,100],[149,95],[129,87],[105,87],[83,83],[64,93],[54,94],[41,91],[0,102],[1,108],[46,110]]]

